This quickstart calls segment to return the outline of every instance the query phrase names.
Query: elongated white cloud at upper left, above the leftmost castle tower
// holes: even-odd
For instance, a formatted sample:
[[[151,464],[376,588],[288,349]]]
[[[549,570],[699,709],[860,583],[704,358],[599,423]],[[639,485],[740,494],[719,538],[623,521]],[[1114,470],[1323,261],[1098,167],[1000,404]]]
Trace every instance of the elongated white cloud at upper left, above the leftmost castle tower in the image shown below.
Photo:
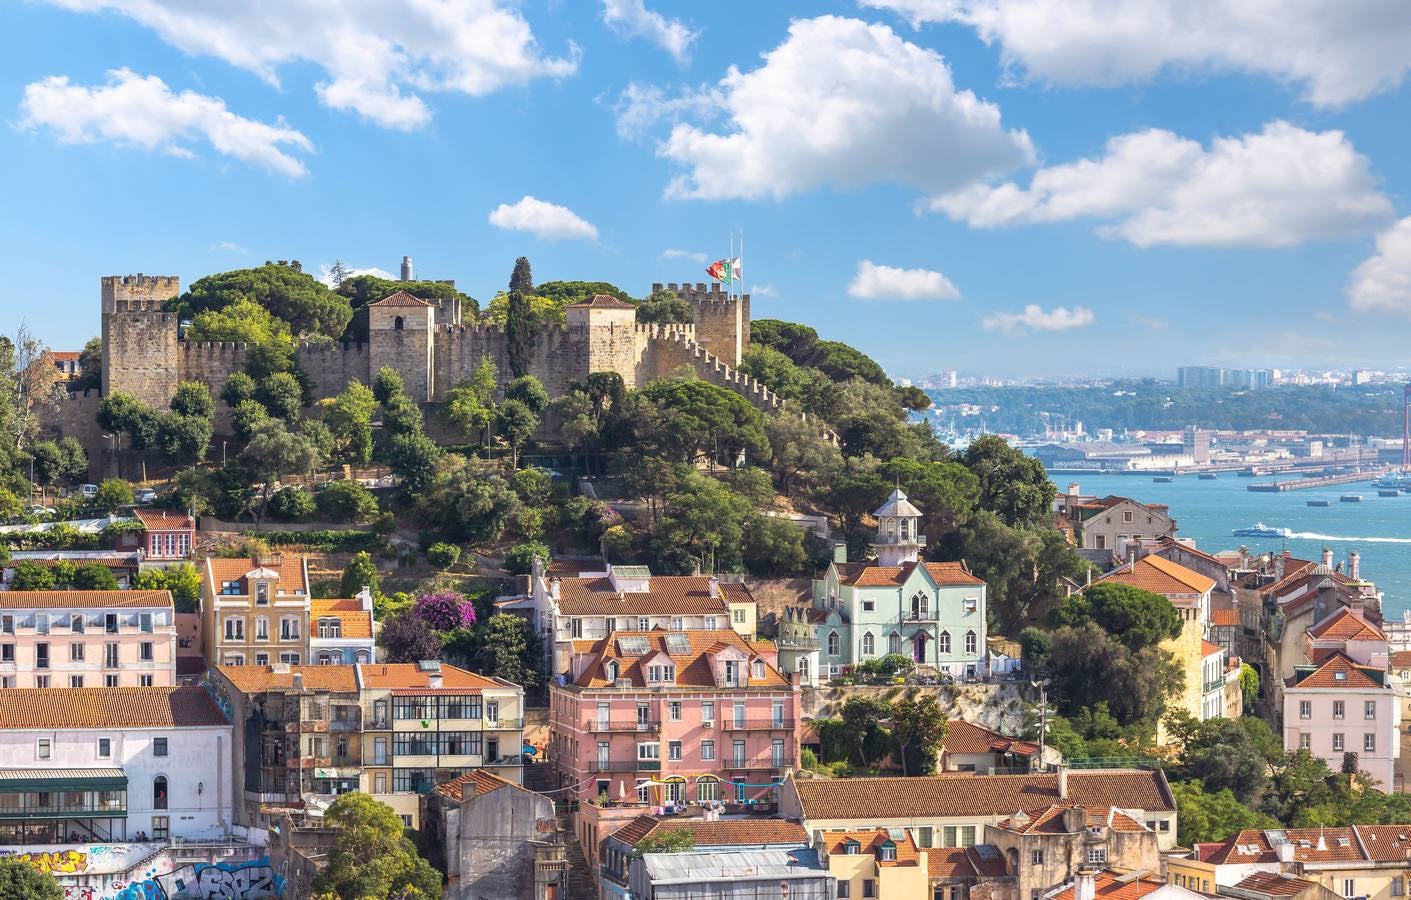
[[[172,93],[155,75],[113,69],[106,85],[85,87],[54,75],[25,85],[21,128],[52,128],[65,144],[111,141],[124,147],[193,157],[189,144],[206,141],[226,157],[301,176],[303,162],[286,150],[313,150],[309,138],[282,120],[265,124],[236,116],[220,97]]]

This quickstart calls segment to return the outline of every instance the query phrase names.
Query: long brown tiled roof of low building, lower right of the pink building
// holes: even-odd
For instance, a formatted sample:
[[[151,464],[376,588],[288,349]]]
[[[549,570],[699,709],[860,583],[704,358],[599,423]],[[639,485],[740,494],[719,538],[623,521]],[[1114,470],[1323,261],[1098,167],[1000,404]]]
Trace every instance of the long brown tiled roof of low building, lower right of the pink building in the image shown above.
[[[1067,777],[1067,798],[1058,796],[1057,774],[807,779],[794,782],[794,790],[807,820],[1009,815],[1061,800],[1146,813],[1175,810],[1160,770],[1102,769]]]

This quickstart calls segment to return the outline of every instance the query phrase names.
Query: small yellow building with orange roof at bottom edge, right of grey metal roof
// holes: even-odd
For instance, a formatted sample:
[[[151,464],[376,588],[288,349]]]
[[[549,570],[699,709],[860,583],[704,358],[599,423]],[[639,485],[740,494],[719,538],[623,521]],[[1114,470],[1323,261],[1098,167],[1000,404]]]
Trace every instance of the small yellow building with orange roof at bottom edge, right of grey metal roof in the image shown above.
[[[930,896],[927,852],[906,828],[825,831],[818,861],[838,879],[838,897],[909,900]]]

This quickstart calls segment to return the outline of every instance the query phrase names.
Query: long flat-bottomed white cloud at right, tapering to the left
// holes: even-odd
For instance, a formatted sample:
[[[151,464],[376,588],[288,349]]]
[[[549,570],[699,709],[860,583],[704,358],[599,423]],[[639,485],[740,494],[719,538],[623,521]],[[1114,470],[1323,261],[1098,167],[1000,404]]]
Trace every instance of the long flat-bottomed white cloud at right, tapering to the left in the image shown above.
[[[1273,121],[1209,150],[1151,128],[1108,140],[1098,159],[1038,169],[1029,188],[971,185],[931,209],[976,229],[1096,219],[1140,247],[1292,247],[1391,219],[1370,162],[1342,131]]]

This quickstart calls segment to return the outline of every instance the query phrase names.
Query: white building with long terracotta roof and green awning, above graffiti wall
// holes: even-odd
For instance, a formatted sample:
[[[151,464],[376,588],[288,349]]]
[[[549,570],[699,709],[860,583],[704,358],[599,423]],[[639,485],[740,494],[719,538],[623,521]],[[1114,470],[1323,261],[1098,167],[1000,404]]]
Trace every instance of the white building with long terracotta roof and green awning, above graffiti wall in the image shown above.
[[[224,837],[230,745],[202,687],[0,691],[0,845]]]

